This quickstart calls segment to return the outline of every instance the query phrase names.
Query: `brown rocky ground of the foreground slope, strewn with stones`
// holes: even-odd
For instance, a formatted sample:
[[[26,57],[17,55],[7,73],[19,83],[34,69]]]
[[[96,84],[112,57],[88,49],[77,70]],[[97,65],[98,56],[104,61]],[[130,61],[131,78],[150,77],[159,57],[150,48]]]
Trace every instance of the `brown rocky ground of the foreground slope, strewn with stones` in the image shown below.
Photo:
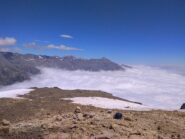
[[[20,99],[0,99],[0,138],[185,138],[184,112],[108,110],[63,99],[87,96],[116,98],[100,91],[42,88]],[[115,119],[116,112],[122,113],[123,117]]]

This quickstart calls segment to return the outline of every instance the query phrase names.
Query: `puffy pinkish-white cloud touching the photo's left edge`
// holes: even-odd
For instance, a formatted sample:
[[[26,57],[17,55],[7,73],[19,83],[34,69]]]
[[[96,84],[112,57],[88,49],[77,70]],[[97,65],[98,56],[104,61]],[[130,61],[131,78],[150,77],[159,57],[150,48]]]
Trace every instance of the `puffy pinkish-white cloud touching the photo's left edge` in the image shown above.
[[[15,45],[17,40],[12,37],[0,38],[0,46],[11,46]]]

